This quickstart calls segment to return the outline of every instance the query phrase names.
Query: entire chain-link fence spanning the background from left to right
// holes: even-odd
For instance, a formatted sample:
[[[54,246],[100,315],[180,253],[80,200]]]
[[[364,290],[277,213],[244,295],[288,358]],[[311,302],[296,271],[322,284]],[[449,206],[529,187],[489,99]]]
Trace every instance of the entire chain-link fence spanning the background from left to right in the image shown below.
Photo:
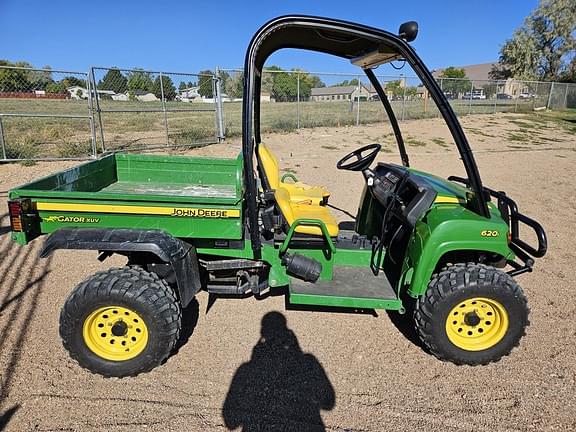
[[[112,151],[197,147],[242,132],[243,72],[210,75],[93,67],[0,66],[0,160],[86,159]],[[396,117],[439,117],[417,78],[377,76]],[[576,108],[576,84],[438,78],[462,116]],[[266,70],[264,132],[387,120],[363,74]]]

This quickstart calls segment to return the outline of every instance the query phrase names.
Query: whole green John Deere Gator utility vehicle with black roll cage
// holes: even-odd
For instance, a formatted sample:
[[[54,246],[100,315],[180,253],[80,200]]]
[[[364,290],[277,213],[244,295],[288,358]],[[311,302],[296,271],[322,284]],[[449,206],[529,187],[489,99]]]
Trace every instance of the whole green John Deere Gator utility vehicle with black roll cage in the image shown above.
[[[66,301],[60,334],[70,355],[104,376],[136,375],[168,357],[182,311],[199,291],[265,297],[280,287],[288,287],[289,303],[307,309],[404,314],[442,360],[477,365],[508,354],[528,324],[513,277],[532,271],[534,258],[546,253],[546,236],[504,192],[482,185],[450,104],[409,45],[417,31],[415,22],[395,35],[333,19],[276,18],[258,30],[246,54],[237,158],[110,154],[10,191],[17,243],[49,234],[42,256],[87,249],[100,260],[127,257],[126,267],[96,273]],[[380,145],[368,144],[336,166],[366,182],[354,221],[336,222],[329,191],[281,177],[262,142],[262,68],[282,48],[358,65],[389,116],[401,165],[374,165]],[[373,72],[394,60],[411,65],[428,89],[466,178],[410,167]],[[521,224],[535,232],[536,247],[520,238]]]

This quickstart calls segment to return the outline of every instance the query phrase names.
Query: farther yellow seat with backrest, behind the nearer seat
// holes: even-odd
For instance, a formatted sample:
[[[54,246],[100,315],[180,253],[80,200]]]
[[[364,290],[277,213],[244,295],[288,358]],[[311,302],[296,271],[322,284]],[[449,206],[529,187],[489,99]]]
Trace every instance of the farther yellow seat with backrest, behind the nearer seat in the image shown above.
[[[266,145],[258,145],[258,162],[262,166],[264,176],[270,189],[283,189],[289,200],[297,204],[322,205],[328,201],[330,192],[322,186],[309,186],[302,182],[285,183],[280,177],[278,159]]]

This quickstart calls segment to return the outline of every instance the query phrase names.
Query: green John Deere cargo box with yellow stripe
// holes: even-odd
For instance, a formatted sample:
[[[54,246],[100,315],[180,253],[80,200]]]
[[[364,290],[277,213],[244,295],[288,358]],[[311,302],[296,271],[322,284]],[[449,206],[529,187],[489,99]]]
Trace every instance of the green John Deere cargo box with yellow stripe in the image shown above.
[[[31,200],[42,234],[94,227],[242,238],[241,157],[112,154],[28,183],[9,197]],[[22,234],[13,233],[14,239],[30,240]]]

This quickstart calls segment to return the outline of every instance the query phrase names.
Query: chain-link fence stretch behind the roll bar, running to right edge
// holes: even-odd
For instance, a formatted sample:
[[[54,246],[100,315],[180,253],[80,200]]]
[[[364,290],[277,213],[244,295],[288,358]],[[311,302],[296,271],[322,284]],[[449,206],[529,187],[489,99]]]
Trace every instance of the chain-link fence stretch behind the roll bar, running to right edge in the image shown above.
[[[243,71],[220,69],[218,78],[225,135],[236,136],[242,125]],[[377,78],[399,120],[440,116],[418,78]],[[453,78],[437,78],[437,82],[460,116],[576,108],[576,84]],[[265,70],[260,100],[261,129],[265,132],[386,121],[376,90],[362,74]]]

